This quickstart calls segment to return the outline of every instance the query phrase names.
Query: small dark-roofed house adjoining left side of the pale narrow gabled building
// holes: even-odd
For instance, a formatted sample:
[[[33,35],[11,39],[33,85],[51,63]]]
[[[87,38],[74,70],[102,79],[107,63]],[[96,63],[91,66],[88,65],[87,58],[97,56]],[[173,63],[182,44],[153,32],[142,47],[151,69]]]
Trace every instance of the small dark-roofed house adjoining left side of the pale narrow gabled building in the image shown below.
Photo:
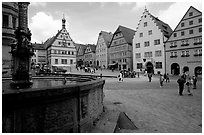
[[[96,45],[86,45],[86,50],[84,52],[84,65],[88,67],[96,66]]]

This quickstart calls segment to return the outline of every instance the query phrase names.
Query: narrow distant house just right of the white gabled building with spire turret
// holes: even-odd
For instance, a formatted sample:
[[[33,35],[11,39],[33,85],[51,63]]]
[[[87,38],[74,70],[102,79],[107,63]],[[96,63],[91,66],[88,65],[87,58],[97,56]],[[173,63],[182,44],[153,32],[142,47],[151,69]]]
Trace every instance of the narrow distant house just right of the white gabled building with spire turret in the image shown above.
[[[76,61],[77,61],[77,66],[82,67],[84,66],[84,54],[86,50],[86,45],[83,44],[77,44],[77,53],[76,53]]]

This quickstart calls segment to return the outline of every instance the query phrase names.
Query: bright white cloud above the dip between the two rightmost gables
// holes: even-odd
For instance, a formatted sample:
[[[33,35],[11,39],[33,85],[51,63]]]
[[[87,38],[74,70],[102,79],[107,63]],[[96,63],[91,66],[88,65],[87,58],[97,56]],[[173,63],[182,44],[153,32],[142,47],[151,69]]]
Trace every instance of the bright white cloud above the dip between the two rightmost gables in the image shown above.
[[[202,3],[178,2],[172,4],[167,10],[160,11],[158,18],[174,30],[190,6],[202,11]]]

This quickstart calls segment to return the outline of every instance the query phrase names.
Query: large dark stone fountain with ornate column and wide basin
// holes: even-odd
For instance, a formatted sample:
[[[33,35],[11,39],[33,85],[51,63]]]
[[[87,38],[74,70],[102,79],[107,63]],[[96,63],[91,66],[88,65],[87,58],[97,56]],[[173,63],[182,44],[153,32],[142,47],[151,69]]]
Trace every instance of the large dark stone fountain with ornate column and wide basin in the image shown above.
[[[28,5],[18,2],[19,27],[11,45],[12,78],[2,78],[2,132],[89,132],[103,112],[105,81],[78,74],[31,77]]]

